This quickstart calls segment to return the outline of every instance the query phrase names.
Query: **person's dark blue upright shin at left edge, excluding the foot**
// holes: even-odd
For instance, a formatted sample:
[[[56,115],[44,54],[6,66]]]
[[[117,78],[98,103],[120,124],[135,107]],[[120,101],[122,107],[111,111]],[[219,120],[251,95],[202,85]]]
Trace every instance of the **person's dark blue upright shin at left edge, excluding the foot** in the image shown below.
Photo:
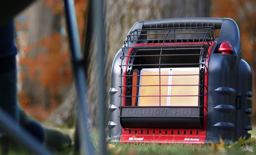
[[[14,21],[0,26],[0,106],[19,120]]]

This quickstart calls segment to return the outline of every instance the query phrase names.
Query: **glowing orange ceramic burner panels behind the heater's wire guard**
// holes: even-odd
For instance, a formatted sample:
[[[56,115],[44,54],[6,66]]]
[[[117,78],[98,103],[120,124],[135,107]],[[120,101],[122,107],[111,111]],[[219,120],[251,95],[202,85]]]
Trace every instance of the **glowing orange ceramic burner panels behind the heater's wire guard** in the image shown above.
[[[198,74],[198,68],[164,68],[159,77],[159,68],[142,69],[138,106],[198,106],[198,96],[195,96],[199,89]],[[136,79],[134,81],[137,82]],[[135,82],[133,85],[136,85]],[[133,95],[136,95],[137,88],[133,90]],[[132,105],[135,105],[136,99],[133,98]]]

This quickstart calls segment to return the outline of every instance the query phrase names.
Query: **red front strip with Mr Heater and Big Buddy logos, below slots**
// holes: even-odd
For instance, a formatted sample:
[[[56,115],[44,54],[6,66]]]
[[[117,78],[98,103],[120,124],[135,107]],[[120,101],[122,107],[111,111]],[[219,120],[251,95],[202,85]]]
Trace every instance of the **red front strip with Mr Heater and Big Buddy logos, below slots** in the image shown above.
[[[204,144],[205,136],[122,135],[120,143]]]

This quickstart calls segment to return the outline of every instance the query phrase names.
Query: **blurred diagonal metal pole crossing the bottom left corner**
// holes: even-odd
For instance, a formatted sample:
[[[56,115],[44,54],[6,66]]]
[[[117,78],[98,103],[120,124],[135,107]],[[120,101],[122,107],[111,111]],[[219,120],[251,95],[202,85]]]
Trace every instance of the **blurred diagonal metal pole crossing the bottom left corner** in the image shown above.
[[[39,155],[51,155],[42,143],[31,136],[25,129],[19,126],[19,123],[14,120],[8,113],[0,107],[0,128],[12,139],[15,139],[20,144],[26,146],[29,150]]]

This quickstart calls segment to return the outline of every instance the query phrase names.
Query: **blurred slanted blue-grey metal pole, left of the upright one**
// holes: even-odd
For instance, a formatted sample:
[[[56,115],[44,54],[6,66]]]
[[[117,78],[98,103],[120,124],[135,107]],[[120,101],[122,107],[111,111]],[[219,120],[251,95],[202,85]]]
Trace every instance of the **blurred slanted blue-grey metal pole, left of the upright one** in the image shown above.
[[[82,64],[81,45],[79,40],[78,27],[76,22],[76,12],[74,0],[64,0],[66,23],[68,28],[68,39],[71,50],[71,60],[75,74],[76,92],[78,97],[78,118],[76,127],[78,129],[79,143],[83,146],[84,154],[94,154],[93,145],[88,126],[88,113],[86,113],[87,85]],[[81,149],[81,147],[80,147]]]

